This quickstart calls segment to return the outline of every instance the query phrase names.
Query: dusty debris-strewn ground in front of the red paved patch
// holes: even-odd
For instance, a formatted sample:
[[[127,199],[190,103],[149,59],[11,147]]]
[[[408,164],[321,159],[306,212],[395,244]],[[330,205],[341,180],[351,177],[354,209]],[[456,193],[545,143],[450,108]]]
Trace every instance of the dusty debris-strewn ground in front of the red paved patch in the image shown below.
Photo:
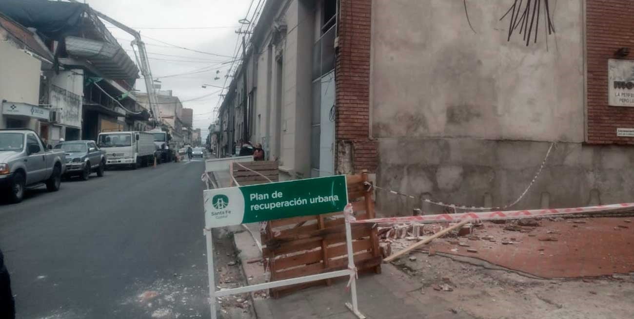
[[[468,260],[462,258],[462,260]],[[416,252],[394,261],[422,298],[437,297],[475,318],[597,319],[634,317],[634,273],[540,279]],[[489,264],[490,265],[490,264]],[[495,265],[493,265],[495,268]]]

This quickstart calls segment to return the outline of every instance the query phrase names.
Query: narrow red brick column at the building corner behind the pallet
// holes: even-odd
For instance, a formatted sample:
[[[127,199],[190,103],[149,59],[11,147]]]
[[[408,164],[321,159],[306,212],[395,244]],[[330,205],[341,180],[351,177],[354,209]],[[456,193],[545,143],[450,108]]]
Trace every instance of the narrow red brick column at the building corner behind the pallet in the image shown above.
[[[350,156],[355,172],[375,172],[377,143],[368,137],[372,0],[340,0],[339,12],[335,139],[338,147],[346,142],[353,147],[352,154],[337,156]]]

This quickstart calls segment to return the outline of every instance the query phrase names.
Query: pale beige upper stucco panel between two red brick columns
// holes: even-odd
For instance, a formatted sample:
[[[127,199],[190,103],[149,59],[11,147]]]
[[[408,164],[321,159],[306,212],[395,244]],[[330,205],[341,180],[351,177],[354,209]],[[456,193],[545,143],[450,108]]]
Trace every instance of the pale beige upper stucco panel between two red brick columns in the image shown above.
[[[462,0],[374,0],[373,135],[582,142],[581,0],[529,46],[507,42],[512,3],[467,1],[474,34]]]

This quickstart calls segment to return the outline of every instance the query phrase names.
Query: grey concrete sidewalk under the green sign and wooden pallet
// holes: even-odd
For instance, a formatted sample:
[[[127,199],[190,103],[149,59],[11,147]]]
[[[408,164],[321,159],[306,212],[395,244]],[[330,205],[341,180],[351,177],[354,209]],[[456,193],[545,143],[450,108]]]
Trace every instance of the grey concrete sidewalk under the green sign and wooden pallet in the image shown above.
[[[221,187],[229,185],[228,172],[214,172],[214,178]],[[259,240],[259,225],[247,225],[252,236],[243,227],[235,227],[234,241],[240,251],[240,261],[249,284],[264,281],[264,269],[261,263],[249,263],[261,258],[254,237]],[[364,275],[357,281],[359,310],[370,319],[467,319],[474,318],[463,311],[451,308],[451,305],[439,297],[421,294],[422,284],[392,265],[382,265],[380,275]],[[313,287],[295,292],[280,299],[254,297],[257,318],[273,319],[313,319],[341,318],[354,319],[344,303],[350,299],[346,290],[347,280],[338,280],[330,287]]]

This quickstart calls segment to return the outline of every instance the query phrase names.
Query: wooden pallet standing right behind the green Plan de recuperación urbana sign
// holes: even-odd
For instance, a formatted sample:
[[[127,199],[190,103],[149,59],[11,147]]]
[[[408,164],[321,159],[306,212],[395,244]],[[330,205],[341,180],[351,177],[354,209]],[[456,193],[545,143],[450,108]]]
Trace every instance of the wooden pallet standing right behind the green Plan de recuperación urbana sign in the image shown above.
[[[355,218],[375,218],[372,191],[364,184],[368,182],[368,175],[349,175],[346,181],[348,201],[353,204]],[[377,229],[372,224],[356,224],[352,234],[354,263],[358,271],[380,273],[382,256]],[[271,272],[271,281],[347,268],[343,212],[271,220],[262,227],[261,237],[264,267]],[[330,285],[331,280],[278,287],[271,289],[271,296],[280,297],[323,284]]]

